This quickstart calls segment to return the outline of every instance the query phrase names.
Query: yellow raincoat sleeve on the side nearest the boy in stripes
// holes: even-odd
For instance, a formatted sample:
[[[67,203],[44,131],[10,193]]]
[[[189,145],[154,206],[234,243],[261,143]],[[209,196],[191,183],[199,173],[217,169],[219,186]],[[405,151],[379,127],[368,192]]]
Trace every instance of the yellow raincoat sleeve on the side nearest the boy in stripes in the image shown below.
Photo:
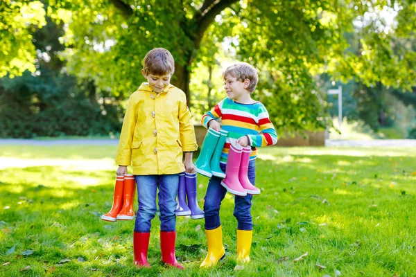
[[[191,111],[187,106],[187,98],[183,93],[179,102],[179,133],[180,143],[182,143],[183,152],[192,152],[198,150],[198,144],[196,144],[195,129],[191,122]]]

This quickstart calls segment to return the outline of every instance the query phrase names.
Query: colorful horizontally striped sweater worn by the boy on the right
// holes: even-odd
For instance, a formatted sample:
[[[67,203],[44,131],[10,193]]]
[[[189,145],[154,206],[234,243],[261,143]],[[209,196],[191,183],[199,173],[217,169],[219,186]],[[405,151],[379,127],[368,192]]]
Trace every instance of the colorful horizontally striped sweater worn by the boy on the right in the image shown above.
[[[221,100],[211,111],[202,116],[201,124],[206,128],[211,120],[222,120],[222,129],[228,131],[220,163],[227,163],[229,145],[241,136],[248,136],[253,152],[250,160],[256,159],[257,148],[277,143],[275,127],[271,123],[266,107],[261,102],[241,104],[228,98]]]

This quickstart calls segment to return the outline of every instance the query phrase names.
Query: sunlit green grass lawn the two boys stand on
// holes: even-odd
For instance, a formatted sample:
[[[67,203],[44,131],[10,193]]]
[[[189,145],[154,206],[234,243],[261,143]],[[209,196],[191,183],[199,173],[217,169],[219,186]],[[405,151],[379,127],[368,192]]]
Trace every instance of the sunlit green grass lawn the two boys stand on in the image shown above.
[[[185,271],[162,265],[155,217],[152,268],[136,269],[134,222],[100,219],[112,202],[115,150],[0,146],[0,276],[416,274],[415,148],[262,149],[251,262],[239,271],[229,194],[220,211],[227,255],[216,267],[199,269],[207,250],[204,221],[189,217],[177,218],[177,258]],[[198,177],[199,199],[207,181]],[[28,250],[34,252],[22,254]]]

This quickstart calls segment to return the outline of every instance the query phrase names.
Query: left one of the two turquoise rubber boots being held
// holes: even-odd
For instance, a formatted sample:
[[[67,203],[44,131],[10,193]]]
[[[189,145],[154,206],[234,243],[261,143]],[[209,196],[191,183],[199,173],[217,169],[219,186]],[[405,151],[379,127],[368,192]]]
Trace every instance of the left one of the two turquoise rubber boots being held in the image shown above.
[[[216,132],[214,129],[209,128],[204,142],[202,143],[200,155],[193,165],[193,168],[195,168],[196,172],[200,175],[211,178],[212,172],[209,163],[211,162],[211,157],[212,154],[214,154],[218,139],[220,139],[220,132]]]

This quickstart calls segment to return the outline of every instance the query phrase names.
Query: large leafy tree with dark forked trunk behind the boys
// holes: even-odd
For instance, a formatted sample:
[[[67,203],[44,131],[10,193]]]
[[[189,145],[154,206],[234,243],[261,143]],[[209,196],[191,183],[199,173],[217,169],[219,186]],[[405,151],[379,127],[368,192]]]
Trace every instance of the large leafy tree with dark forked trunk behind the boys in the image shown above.
[[[332,0],[45,0],[47,13],[66,24],[62,57],[70,72],[114,95],[128,95],[143,80],[141,60],[155,46],[175,57],[175,84],[187,93],[198,55],[209,39],[225,37],[236,57],[263,72],[259,98],[271,105],[277,126],[324,127],[315,76],[410,89],[416,55],[398,53],[392,34],[413,35],[413,1]],[[385,24],[381,11],[396,15]],[[367,15],[374,15],[368,17]],[[410,17],[409,17],[410,16]],[[407,19],[406,19],[407,18]],[[410,18],[410,19],[409,19]],[[345,34],[361,23],[361,55],[348,51]],[[277,104],[277,105],[276,105]]]

